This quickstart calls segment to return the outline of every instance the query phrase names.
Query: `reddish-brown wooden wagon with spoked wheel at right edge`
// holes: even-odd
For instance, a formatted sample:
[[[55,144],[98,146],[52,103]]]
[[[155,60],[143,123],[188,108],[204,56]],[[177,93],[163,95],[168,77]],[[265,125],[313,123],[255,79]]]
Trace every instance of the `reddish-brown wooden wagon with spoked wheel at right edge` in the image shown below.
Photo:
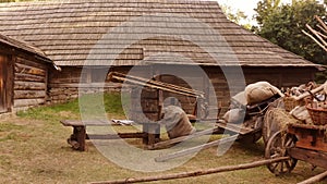
[[[267,131],[265,134],[268,134]],[[292,122],[287,123],[282,128],[270,135],[266,140],[265,157],[267,159],[290,158],[281,162],[267,164],[267,168],[274,174],[290,173],[295,168],[298,160],[327,170],[327,124],[316,125]],[[314,183],[326,176],[327,171],[302,183]]]

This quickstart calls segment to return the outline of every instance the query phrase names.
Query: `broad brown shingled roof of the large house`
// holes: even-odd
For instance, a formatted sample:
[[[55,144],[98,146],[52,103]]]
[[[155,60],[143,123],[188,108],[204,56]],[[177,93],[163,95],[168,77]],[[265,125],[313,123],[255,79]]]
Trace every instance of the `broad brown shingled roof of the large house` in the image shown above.
[[[35,45],[62,66],[86,59],[90,65],[190,64],[181,56],[202,65],[314,66],[228,21],[214,1],[0,3],[0,34]]]

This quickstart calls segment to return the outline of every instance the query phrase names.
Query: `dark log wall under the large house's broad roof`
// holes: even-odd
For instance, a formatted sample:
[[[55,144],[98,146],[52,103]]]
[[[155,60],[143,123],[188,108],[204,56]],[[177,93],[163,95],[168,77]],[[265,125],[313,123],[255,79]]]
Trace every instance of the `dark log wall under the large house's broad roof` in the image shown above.
[[[203,66],[203,74],[209,77],[209,82],[205,81],[205,76],[201,73],[192,72],[192,66],[175,65],[173,68],[166,66],[167,69],[173,69],[179,72],[179,76],[172,76],[164,74],[162,71],[167,71],[165,65],[157,66],[117,66],[110,71],[121,72],[131,75],[149,78],[149,76],[159,76],[159,81],[170,83],[183,87],[189,87],[202,90],[206,93],[206,98],[209,102],[209,109],[216,110],[221,107],[222,115],[230,102],[230,94],[237,94],[243,90],[243,86],[238,81],[231,82],[233,86],[228,86],[227,79],[219,66]],[[132,71],[132,72],[131,72]],[[161,72],[160,72],[161,71]],[[184,72],[183,72],[184,71]],[[187,71],[187,72],[185,72]],[[231,70],[233,71],[233,70]],[[237,70],[234,70],[237,71]],[[63,68],[61,72],[53,71],[50,74],[50,87],[49,87],[49,100],[50,102],[64,102],[78,97],[78,86],[84,93],[97,93],[97,91],[118,91],[120,90],[119,84],[106,84],[102,88],[104,78],[96,75],[96,73],[107,73],[108,69],[93,69],[89,70],[89,74],[81,78],[81,68]],[[243,74],[245,83],[251,84],[259,81],[266,81],[277,87],[290,87],[298,86],[300,84],[308,83],[314,79],[314,68],[255,68],[244,66]],[[232,75],[232,74],[231,74]],[[98,77],[97,77],[98,76]],[[81,81],[81,84],[80,83]],[[106,81],[108,82],[108,81]],[[209,89],[209,83],[214,86],[214,89]],[[172,93],[162,93],[164,100],[168,97],[174,97],[179,100],[182,108],[186,113],[192,114],[195,106],[195,98],[185,97]],[[143,96],[142,98],[146,98]],[[147,106],[144,105],[144,108]],[[148,106],[149,107],[149,106]],[[150,106],[152,107],[152,106]],[[145,111],[152,111],[144,109]]]

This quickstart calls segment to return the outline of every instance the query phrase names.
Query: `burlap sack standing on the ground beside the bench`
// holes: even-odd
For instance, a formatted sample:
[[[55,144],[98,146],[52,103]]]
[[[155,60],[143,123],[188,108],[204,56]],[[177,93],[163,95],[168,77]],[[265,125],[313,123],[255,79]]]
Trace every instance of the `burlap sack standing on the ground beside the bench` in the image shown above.
[[[186,113],[177,106],[168,106],[162,110],[164,119],[160,121],[166,126],[169,138],[190,135],[196,132]]]

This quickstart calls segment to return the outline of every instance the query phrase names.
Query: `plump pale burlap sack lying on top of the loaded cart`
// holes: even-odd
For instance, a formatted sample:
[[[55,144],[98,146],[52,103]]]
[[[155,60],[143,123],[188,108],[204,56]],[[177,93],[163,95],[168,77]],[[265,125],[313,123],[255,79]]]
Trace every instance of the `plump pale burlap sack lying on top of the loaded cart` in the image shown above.
[[[277,94],[283,96],[277,87],[268,82],[257,82],[245,87],[245,96],[249,105],[265,101]]]

